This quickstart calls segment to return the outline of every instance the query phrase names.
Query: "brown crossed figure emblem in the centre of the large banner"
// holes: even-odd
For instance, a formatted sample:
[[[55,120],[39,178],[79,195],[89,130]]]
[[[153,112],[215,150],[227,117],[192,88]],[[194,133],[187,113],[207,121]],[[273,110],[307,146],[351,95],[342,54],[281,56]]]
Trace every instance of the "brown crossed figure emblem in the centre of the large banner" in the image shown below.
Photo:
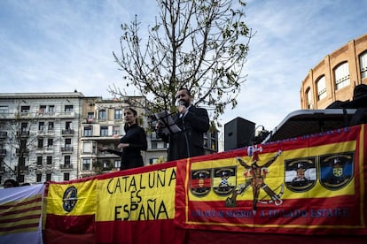
[[[233,194],[227,198],[225,201],[226,207],[234,207],[237,205],[236,198],[238,194],[243,194],[246,191],[246,188],[251,186],[253,188],[253,211],[254,214],[257,210],[257,203],[261,202],[259,201],[259,194],[260,190],[263,189],[264,192],[269,195],[271,201],[274,202],[277,206],[283,203],[283,200],[281,199],[281,194],[276,194],[267,184],[264,183],[264,179],[266,178],[266,175],[269,173],[268,167],[273,164],[277,157],[282,154],[281,150],[277,151],[277,154],[271,158],[267,163],[263,165],[258,165],[257,162],[259,161],[258,152],[262,151],[262,148],[254,148],[250,149],[249,147],[248,151],[253,153],[253,164],[248,165],[245,161],[243,161],[240,157],[237,157],[237,161],[239,164],[241,164],[245,168],[244,176],[245,176],[245,184],[238,185],[238,188],[235,188],[233,190]],[[250,153],[248,154],[249,156]],[[284,186],[282,186],[284,187]]]

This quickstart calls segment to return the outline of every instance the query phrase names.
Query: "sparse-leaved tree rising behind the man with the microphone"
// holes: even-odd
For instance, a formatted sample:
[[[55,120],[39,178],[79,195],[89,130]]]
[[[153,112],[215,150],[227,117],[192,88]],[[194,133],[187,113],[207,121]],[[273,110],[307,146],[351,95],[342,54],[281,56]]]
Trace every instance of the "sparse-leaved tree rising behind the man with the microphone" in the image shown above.
[[[122,24],[121,56],[113,57],[123,82],[147,98],[150,111],[175,110],[176,90],[188,88],[194,103],[213,120],[237,105],[243,67],[253,36],[246,27],[245,3],[232,0],[157,0],[160,14],[147,36],[136,19]],[[142,38],[144,36],[144,38]],[[126,88],[109,87],[114,96]]]

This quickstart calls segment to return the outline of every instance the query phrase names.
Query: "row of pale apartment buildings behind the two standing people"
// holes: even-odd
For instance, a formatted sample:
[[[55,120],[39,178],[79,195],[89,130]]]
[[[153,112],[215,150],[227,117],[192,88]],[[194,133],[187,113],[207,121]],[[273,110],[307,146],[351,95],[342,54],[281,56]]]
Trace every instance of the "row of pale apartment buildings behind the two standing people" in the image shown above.
[[[129,107],[147,133],[144,165],[167,162],[168,143],[156,137],[141,104],[139,96],[103,99],[77,91],[0,94],[0,185],[10,178],[35,184],[118,171],[120,156],[98,146],[116,148]],[[217,140],[216,132],[205,135],[207,154],[217,152]]]

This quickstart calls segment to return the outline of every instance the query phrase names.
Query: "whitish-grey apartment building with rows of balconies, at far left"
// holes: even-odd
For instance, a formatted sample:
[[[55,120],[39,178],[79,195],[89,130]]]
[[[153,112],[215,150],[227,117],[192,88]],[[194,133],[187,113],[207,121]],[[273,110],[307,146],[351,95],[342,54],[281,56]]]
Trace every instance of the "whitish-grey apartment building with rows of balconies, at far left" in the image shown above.
[[[82,94],[0,94],[0,179],[76,179]]]

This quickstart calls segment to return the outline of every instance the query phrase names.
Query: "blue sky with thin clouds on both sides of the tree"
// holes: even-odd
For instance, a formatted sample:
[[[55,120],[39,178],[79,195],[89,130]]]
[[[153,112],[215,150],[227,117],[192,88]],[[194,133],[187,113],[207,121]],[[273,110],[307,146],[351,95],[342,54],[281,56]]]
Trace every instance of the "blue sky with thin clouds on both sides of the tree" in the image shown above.
[[[238,106],[241,117],[271,130],[301,109],[301,82],[327,54],[367,34],[367,0],[250,0],[246,25],[256,31]],[[153,0],[1,0],[1,93],[72,92],[110,98],[121,84],[112,52],[121,23],[141,28],[158,16]]]

